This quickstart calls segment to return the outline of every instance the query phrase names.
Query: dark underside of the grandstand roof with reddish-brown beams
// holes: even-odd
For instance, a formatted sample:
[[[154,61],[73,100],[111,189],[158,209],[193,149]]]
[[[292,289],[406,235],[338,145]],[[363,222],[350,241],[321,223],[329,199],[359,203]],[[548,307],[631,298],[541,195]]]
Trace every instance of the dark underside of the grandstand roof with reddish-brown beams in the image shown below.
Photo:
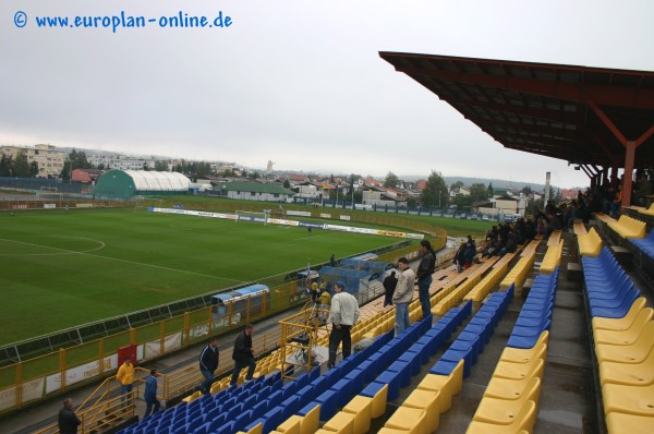
[[[623,167],[622,143],[642,136],[635,167],[654,166],[654,72],[379,56],[507,148],[594,168]]]

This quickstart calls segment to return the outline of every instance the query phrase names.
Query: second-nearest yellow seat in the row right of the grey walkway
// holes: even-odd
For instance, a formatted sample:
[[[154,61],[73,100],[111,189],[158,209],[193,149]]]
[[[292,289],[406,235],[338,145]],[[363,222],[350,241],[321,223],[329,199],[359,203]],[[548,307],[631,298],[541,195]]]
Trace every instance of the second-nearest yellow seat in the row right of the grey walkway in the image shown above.
[[[642,387],[605,384],[602,387],[602,399],[606,414],[618,412],[654,418],[654,384]]]

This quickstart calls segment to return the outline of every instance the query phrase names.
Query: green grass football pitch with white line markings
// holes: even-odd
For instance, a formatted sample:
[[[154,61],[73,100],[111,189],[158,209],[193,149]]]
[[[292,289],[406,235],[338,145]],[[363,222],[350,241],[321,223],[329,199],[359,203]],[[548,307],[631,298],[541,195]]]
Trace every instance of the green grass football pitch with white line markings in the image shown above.
[[[131,209],[0,214],[0,346],[399,241]]]

